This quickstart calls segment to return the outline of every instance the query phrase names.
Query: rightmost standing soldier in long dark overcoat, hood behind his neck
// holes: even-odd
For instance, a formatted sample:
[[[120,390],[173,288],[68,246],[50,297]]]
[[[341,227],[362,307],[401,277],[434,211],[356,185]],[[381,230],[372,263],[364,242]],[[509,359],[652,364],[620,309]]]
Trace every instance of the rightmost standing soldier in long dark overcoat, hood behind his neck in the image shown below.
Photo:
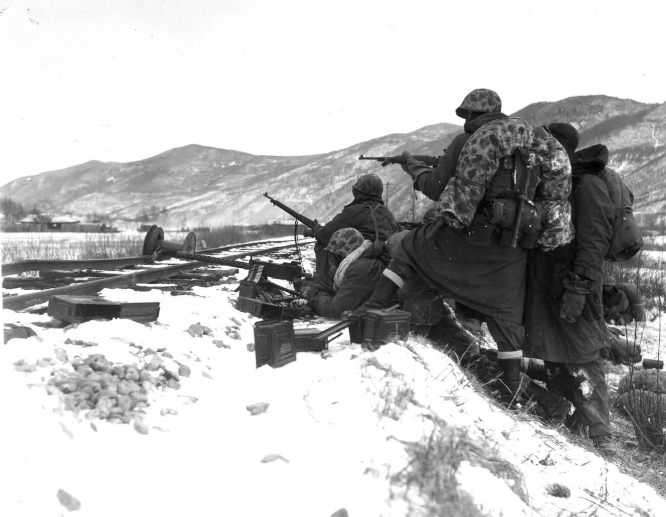
[[[570,202],[575,239],[543,252],[531,250],[525,304],[525,341],[529,357],[543,359],[547,387],[576,409],[577,417],[602,452],[612,450],[608,392],[603,372],[609,335],[603,320],[603,261],[612,238],[615,206],[597,174],[606,152],[574,154],[578,134],[569,124],[549,130],[571,156]]]

